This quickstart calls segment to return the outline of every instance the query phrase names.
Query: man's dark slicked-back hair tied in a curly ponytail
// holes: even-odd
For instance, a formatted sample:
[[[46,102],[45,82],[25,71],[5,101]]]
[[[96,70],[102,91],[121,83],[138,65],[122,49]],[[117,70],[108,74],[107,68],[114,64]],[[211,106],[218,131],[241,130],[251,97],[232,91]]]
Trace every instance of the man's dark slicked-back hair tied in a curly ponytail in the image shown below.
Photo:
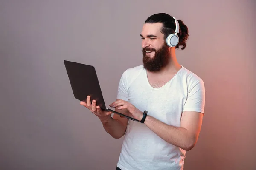
[[[176,48],[179,48],[179,46],[181,45],[183,46],[181,50],[184,50],[186,48],[186,40],[189,37],[189,29],[183,23],[182,20],[177,20],[177,21],[179,22],[179,25],[180,25],[179,33],[177,34],[180,40]],[[158,14],[151,15],[150,17],[148,17],[145,23],[162,23],[163,27],[160,31],[161,33],[164,34],[165,40],[169,34],[175,33],[175,28],[176,28],[175,20],[169,14],[158,13]]]

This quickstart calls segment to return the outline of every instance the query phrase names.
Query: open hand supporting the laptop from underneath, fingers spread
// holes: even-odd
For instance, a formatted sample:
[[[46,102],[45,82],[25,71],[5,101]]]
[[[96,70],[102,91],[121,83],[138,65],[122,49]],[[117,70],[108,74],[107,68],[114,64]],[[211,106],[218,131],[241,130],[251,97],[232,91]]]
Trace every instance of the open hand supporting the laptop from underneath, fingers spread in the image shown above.
[[[88,108],[93,114],[98,116],[102,122],[108,121],[108,119],[111,117],[110,115],[112,112],[102,110],[99,106],[96,105],[96,100],[93,100],[92,102],[93,103],[91,104],[90,96],[87,96],[86,101],[80,102],[80,104]]]

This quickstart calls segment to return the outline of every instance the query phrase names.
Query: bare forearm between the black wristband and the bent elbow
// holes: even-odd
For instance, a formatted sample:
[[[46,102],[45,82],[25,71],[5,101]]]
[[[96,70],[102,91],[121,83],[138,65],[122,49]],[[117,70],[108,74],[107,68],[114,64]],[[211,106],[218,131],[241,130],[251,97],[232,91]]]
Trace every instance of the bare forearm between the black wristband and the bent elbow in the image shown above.
[[[195,143],[195,138],[183,127],[167,125],[149,115],[146,117],[144,123],[160,138],[184,150],[192,149]]]

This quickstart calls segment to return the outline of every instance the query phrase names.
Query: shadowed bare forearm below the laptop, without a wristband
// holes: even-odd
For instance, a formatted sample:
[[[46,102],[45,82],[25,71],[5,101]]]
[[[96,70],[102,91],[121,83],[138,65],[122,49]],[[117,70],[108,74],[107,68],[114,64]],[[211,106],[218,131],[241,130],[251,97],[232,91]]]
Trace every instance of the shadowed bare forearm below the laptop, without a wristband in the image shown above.
[[[109,133],[113,138],[119,139],[125,134],[126,128],[119,120],[113,119],[111,116],[109,116],[108,119],[101,121],[106,132]]]

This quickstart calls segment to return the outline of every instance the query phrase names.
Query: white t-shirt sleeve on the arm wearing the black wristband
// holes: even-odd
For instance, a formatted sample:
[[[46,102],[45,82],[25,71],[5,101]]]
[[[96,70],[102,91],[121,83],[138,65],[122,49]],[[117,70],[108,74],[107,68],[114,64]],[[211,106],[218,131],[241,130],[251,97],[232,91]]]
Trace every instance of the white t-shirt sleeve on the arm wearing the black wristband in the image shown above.
[[[205,105],[205,88],[203,80],[199,80],[188,91],[188,97],[185,102],[183,111],[196,111],[204,114]]]

